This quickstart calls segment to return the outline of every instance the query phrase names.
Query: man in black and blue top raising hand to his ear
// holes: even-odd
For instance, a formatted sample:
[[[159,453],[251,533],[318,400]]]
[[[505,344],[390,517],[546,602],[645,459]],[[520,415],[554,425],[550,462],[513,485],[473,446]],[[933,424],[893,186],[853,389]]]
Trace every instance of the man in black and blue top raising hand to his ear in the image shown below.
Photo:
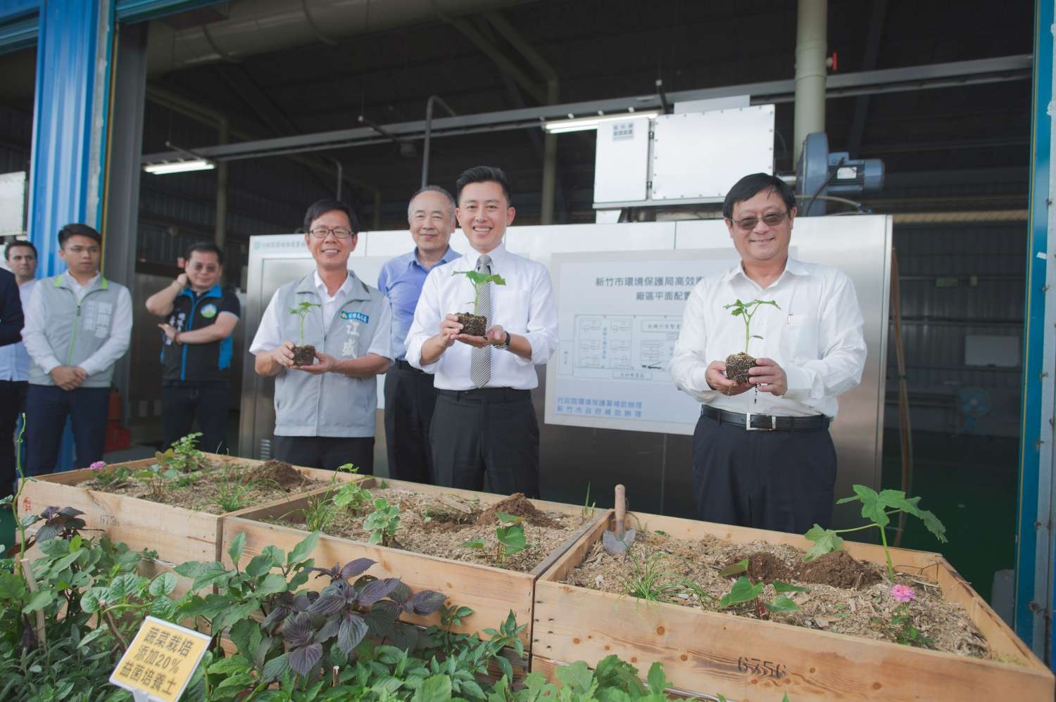
[[[165,445],[190,434],[197,421],[199,447],[227,451],[231,405],[231,348],[242,309],[220,285],[224,252],[212,242],[192,244],[184,272],[147,299],[147,310],[166,318],[162,329],[162,426]]]

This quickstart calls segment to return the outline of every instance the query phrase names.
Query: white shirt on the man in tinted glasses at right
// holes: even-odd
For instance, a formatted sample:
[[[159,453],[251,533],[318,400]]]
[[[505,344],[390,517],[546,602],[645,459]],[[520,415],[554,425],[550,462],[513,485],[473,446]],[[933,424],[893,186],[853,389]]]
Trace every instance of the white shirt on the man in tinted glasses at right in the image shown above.
[[[777,362],[788,392],[754,390],[727,397],[708,385],[712,361],[744,350],[744,323],[723,309],[736,300],[773,300],[752,317],[748,353]],[[862,308],[851,280],[836,268],[789,259],[780,278],[762,288],[738,263],[709,276],[690,293],[671,374],[679,390],[720,410],[777,416],[836,416],[836,396],[857,386],[865,368]]]

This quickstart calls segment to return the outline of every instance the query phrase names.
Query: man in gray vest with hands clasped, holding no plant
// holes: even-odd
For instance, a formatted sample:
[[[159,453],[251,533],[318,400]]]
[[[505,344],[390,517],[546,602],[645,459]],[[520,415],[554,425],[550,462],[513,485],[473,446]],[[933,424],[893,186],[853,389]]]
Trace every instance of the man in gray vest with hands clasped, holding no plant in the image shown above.
[[[132,336],[128,288],[99,272],[102,235],[84,224],[59,230],[67,271],[37,283],[22,340],[33,363],[25,399],[26,474],[55,470],[67,417],[76,467],[102,459],[114,363]]]

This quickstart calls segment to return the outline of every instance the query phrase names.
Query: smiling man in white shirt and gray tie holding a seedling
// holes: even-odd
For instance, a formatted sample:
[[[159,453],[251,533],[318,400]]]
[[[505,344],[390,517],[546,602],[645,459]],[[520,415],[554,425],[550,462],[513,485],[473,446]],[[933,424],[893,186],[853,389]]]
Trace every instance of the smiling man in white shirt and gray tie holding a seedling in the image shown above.
[[[542,264],[506,250],[513,223],[506,174],[477,166],[456,183],[456,216],[473,250],[433,268],[422,287],[407,336],[407,360],[435,374],[436,411],[430,428],[436,483],[492,492],[539,495],[539,422],[530,391],[535,365],[558,346],[558,314],[550,274]],[[482,291],[488,328],[461,334],[455,312],[474,299],[456,271],[501,276]]]

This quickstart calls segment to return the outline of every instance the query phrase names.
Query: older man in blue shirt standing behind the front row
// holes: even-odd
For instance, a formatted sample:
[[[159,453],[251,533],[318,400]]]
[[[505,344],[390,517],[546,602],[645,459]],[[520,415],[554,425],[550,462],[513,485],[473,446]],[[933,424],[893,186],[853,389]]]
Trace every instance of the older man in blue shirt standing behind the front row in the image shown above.
[[[378,289],[389,298],[393,308],[395,361],[385,375],[389,477],[433,482],[429,424],[433,420],[436,391],[433,376],[404,359],[404,339],[429,271],[461,255],[448,245],[456,226],[454,198],[439,186],[426,186],[411,198],[407,219],[415,248],[386,262],[378,276]]]

